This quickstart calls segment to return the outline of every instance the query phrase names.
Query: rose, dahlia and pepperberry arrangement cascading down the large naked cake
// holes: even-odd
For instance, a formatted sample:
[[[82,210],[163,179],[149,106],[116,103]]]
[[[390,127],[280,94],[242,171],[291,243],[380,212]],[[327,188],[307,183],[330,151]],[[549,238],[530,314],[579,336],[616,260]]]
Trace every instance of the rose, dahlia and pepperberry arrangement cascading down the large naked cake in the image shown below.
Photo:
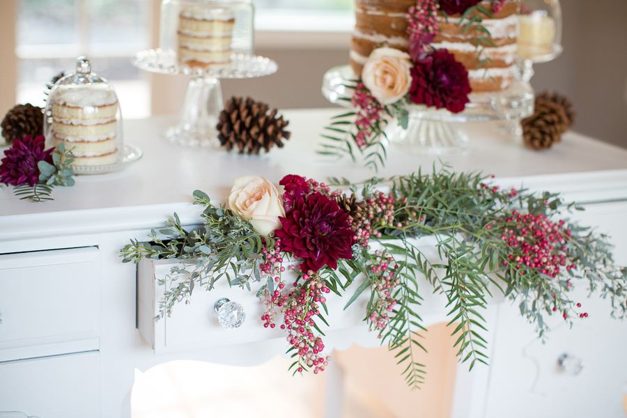
[[[481,25],[483,15],[493,17],[505,0],[489,0],[491,11],[480,1],[419,0],[410,7],[405,35],[408,52],[385,43],[371,52],[364,63],[361,80],[346,85],[353,89],[350,102],[355,111],[336,116],[325,128],[333,134],[323,134],[323,137],[333,142],[323,144],[319,153],[348,154],[355,160],[351,145],[355,144],[365,158],[366,167],[377,170],[379,164],[385,165],[385,126],[390,119],[397,118],[398,124],[406,129],[409,114],[405,107],[424,104],[452,113],[463,111],[472,91],[467,70],[448,49],[436,50],[429,44],[440,31],[438,12],[445,19],[448,15],[461,15],[458,24],[463,26],[462,31],[472,27],[477,33],[478,68],[483,68],[486,61],[491,61],[487,57],[480,58],[483,45],[494,46],[486,36],[490,32]]]

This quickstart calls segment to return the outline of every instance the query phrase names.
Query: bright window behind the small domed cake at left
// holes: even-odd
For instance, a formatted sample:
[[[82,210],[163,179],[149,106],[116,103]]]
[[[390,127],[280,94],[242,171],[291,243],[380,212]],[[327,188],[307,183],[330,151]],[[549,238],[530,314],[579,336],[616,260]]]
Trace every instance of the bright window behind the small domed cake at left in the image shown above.
[[[130,57],[150,46],[150,0],[20,0],[17,102],[42,106],[45,84],[78,56],[116,88],[125,118],[150,115],[150,86]]]

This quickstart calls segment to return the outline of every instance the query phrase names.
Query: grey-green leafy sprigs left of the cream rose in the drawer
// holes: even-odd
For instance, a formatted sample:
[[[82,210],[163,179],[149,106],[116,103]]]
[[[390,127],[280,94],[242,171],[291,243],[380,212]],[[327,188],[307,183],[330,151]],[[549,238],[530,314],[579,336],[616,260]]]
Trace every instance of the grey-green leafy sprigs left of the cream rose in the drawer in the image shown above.
[[[187,231],[178,215],[167,221],[167,227],[159,232],[166,235],[162,240],[153,230],[150,242],[131,240],[121,250],[124,263],[138,263],[143,257],[163,259],[177,258],[183,264],[171,268],[167,280],[169,288],[160,300],[160,314],[171,315],[176,302],[185,300],[201,286],[210,291],[215,282],[226,277],[231,286],[250,288],[250,281],[261,281],[265,274],[259,265],[264,262],[261,251],[274,246],[272,238],[253,231],[250,224],[233,215],[231,210],[215,206],[206,193],[196,190],[194,204],[205,206],[203,226]],[[164,283],[160,283],[164,284]]]

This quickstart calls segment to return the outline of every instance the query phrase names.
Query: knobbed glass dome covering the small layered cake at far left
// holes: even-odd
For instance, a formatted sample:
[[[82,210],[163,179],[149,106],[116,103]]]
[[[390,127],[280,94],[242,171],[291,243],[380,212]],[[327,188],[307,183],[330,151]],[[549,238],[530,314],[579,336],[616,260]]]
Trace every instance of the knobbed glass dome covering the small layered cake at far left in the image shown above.
[[[122,114],[113,86],[91,72],[81,56],[76,72],[59,79],[45,107],[47,148],[63,143],[75,156],[72,166],[105,167],[118,164],[123,149]]]

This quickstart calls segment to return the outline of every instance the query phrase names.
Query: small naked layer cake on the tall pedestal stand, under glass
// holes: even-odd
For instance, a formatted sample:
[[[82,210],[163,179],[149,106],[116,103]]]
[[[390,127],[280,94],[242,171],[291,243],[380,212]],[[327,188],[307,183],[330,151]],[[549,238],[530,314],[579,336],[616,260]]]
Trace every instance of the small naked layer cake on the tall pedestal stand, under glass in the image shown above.
[[[235,14],[229,8],[189,8],[178,16],[178,61],[207,68],[231,62]]]

